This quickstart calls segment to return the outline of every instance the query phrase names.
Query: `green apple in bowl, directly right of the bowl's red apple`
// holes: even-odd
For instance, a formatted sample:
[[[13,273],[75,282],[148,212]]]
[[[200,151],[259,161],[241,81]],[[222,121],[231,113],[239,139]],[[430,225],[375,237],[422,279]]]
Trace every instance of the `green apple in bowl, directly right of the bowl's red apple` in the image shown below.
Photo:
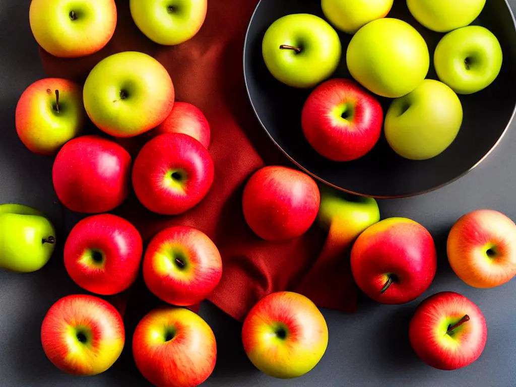
[[[425,79],[414,91],[395,99],[385,116],[385,137],[400,156],[424,160],[442,153],[462,124],[462,105],[453,90]]]

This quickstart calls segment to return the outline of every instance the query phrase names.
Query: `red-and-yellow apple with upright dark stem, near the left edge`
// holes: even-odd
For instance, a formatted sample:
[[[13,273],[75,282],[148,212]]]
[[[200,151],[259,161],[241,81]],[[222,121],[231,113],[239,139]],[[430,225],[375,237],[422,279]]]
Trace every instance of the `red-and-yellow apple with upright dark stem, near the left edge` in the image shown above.
[[[67,79],[37,80],[25,89],[16,106],[20,140],[27,149],[42,155],[54,155],[80,135],[85,119],[83,89]]]

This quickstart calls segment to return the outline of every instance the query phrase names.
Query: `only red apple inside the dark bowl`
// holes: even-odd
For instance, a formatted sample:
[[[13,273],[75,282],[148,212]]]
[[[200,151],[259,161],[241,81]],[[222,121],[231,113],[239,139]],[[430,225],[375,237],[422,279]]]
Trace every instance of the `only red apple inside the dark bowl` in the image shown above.
[[[317,86],[301,115],[302,130],[312,148],[336,162],[360,158],[373,149],[382,123],[378,100],[353,80],[341,78]]]

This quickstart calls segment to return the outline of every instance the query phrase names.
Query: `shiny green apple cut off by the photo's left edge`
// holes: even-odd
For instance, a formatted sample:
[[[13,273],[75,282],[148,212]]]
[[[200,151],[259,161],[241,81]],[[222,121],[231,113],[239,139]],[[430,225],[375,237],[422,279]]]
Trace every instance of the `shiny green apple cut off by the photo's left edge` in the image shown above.
[[[37,209],[0,205],[0,268],[18,272],[41,269],[56,242],[54,226]]]

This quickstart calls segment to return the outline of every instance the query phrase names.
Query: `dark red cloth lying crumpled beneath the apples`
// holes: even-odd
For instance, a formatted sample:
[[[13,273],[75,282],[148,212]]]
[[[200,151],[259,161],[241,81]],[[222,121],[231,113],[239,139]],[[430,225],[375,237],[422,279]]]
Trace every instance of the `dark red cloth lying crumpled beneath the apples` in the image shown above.
[[[330,248],[332,253],[326,252],[310,275],[326,231],[314,225],[296,240],[268,243],[252,233],[241,211],[241,195],[249,176],[265,164],[287,163],[259,126],[245,91],[244,36],[255,6],[256,0],[209,0],[199,33],[184,44],[169,47],[147,39],[134,24],[128,1],[118,1],[117,29],[103,50],[79,59],[55,58],[40,50],[43,67],[49,76],[83,83],[102,58],[121,51],[144,52],[167,68],[176,100],[192,103],[204,112],[212,128],[208,150],[215,162],[215,182],[207,197],[177,217],[151,214],[134,195],[115,212],[132,221],[147,241],[173,224],[196,227],[211,237],[223,259],[221,283],[209,297],[219,308],[241,320],[263,296],[296,291],[305,278],[302,293],[320,307],[351,311],[356,290],[350,284],[349,255]],[[141,145],[137,141],[121,142],[134,146],[134,154]]]

